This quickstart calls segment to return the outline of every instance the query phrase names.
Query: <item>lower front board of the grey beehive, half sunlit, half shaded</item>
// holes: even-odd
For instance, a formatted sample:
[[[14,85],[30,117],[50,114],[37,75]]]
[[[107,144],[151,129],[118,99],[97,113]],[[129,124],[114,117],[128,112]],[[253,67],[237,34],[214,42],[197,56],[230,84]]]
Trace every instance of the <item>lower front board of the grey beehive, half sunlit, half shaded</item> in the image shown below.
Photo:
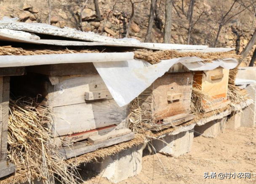
[[[127,107],[114,99],[53,107],[55,136],[71,135],[109,125],[126,123]]]

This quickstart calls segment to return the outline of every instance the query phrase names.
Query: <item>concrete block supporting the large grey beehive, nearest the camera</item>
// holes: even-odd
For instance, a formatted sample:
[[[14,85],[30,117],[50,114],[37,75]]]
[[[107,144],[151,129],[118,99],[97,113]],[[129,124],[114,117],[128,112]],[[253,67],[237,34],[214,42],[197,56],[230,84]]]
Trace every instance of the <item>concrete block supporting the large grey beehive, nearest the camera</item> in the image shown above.
[[[89,163],[85,169],[96,171],[113,183],[123,181],[141,172],[143,149],[143,144],[126,149],[99,162]]]

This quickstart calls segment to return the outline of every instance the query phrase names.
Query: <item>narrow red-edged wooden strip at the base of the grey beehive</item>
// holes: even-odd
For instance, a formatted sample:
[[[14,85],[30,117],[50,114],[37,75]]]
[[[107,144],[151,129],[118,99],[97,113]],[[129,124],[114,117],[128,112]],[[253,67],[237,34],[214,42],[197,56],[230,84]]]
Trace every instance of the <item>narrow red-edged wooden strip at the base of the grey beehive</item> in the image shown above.
[[[91,131],[85,131],[85,132],[80,132],[80,133],[65,136],[62,141],[62,146],[69,146],[69,145],[73,144],[74,142],[87,139],[90,136],[104,135],[106,133],[109,133],[110,131],[115,130],[116,127],[117,127],[117,125],[110,125],[107,127],[96,128]]]

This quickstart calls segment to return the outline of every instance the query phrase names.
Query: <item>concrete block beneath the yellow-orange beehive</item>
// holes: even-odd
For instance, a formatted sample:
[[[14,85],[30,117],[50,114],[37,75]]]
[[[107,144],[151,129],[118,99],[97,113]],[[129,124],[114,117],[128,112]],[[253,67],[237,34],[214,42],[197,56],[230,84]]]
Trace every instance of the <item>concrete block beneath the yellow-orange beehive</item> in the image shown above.
[[[218,120],[213,120],[204,125],[195,126],[195,136],[204,136],[209,138],[216,138],[220,132],[223,131],[227,117]]]

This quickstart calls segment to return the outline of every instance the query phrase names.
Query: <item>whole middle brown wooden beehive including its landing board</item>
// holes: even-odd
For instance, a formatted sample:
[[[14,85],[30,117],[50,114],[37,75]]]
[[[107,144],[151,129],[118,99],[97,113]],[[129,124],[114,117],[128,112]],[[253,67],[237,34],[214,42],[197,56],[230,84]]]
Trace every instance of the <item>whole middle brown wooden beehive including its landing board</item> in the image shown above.
[[[193,118],[189,115],[192,72],[165,73],[139,96],[146,117],[152,117],[152,130],[179,125]]]

